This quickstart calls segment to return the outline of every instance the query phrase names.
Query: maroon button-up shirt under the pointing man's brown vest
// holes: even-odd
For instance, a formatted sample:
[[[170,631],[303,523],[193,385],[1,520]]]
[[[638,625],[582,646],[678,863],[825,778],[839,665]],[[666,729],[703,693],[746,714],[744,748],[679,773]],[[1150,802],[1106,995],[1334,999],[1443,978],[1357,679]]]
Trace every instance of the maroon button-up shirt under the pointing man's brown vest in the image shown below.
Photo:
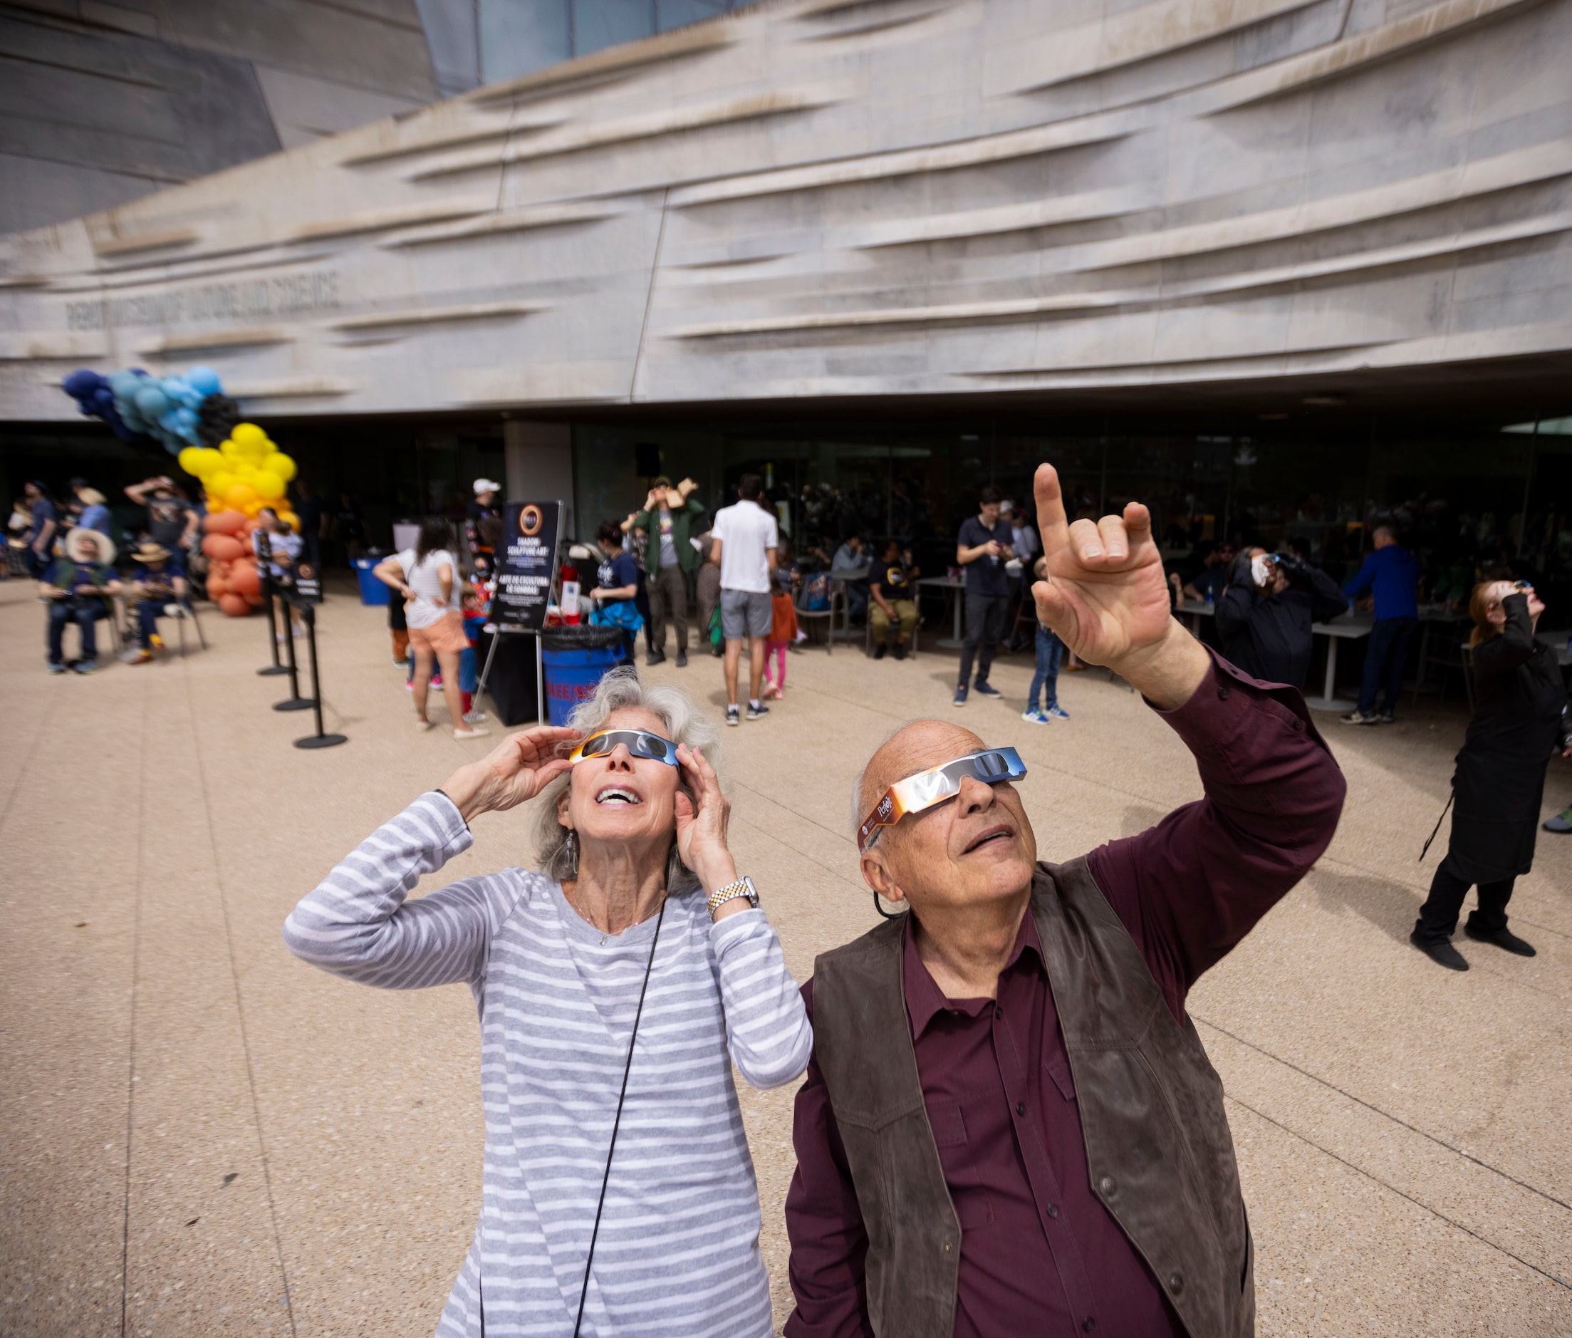
[[[1331,841],[1342,772],[1303,698],[1221,657],[1177,711],[1206,799],[1099,846],[1091,874],[1174,1017],[1185,994]],[[1023,917],[997,998],[945,998],[905,934],[907,1016],[927,1119],[960,1217],[956,1338],[1184,1335],[1146,1263],[1093,1193],[1075,1085],[1038,929]],[[803,986],[813,1011],[813,981]],[[797,1093],[786,1195],[786,1338],[871,1335],[857,1192],[816,1063]],[[1204,1338],[1204,1335],[1196,1335]]]

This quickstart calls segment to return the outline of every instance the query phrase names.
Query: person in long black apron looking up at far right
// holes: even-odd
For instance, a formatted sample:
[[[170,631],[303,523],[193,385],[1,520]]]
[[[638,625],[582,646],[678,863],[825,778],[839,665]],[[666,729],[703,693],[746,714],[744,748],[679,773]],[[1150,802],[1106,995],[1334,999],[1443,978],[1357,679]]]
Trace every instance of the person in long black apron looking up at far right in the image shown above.
[[[1534,862],[1545,761],[1572,756],[1567,692],[1548,646],[1534,640],[1545,605],[1531,585],[1476,585],[1473,613],[1475,714],[1453,772],[1453,835],[1431,895],[1409,935],[1434,962],[1454,972],[1468,962],[1451,945],[1468,888],[1479,907],[1464,932],[1522,958],[1534,950],[1506,928],[1512,882]]]

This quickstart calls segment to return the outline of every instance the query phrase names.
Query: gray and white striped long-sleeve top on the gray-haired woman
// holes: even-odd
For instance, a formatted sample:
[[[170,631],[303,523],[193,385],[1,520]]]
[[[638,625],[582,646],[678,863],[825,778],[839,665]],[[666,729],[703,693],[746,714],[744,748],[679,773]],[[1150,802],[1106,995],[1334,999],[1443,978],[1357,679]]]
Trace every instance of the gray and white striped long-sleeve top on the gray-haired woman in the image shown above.
[[[406,902],[468,849],[424,794],[285,921],[289,950],[365,984],[468,983],[481,1019],[481,1220],[440,1338],[566,1335],[578,1308],[634,1011],[656,920],[602,935],[550,879],[503,869]],[[781,1086],[813,1035],[762,910],[712,924],[667,899],[596,1242],[585,1335],[770,1333],[759,1193],[731,1064]]]

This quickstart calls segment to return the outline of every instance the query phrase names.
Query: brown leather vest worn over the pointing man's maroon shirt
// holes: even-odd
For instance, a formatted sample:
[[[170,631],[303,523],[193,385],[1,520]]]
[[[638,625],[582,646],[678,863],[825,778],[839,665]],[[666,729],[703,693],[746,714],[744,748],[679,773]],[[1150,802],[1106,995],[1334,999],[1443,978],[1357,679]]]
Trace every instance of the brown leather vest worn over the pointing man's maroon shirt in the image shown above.
[[[1075,1079],[1093,1190],[1192,1338],[1256,1329],[1254,1247],[1223,1083],[1174,1020],[1086,860],[1039,865],[1031,913]],[[902,921],[813,970],[814,1053],[868,1231],[868,1314],[890,1338],[951,1338],[960,1223],[912,1047]]]

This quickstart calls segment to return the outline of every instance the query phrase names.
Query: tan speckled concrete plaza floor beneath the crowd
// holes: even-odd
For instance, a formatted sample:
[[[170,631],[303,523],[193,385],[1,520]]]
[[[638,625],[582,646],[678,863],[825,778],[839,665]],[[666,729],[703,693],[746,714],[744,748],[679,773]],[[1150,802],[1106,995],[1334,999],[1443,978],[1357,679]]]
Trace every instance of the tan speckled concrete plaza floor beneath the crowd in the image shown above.
[[[269,709],[258,619],[212,648],[49,678],[28,583],[0,585],[0,1333],[376,1335],[434,1330],[479,1190],[478,1033],[462,987],[391,994],[294,961],[278,928],[380,821],[495,739],[417,734],[380,610],[321,615],[329,728]],[[71,634],[74,637],[74,634]],[[1012,742],[1045,858],[1199,794],[1130,692],[1067,675],[1069,723],[957,712]],[[720,711],[718,663],[652,673]],[[799,980],[874,923],[847,833],[858,764],[948,715],[954,662],[792,656],[788,700],[725,731],[739,865]],[[440,714],[440,712],[439,712]],[[1512,902],[1533,961],[1405,942],[1437,852],[1464,715],[1324,717],[1349,777],[1319,866],[1190,997],[1228,1093],[1264,1335],[1572,1335],[1572,838],[1541,836]],[[1547,811],[1572,799],[1550,767]],[[531,862],[528,816],[476,822],[457,877]],[[742,1088],[777,1321],[791,1088]]]

